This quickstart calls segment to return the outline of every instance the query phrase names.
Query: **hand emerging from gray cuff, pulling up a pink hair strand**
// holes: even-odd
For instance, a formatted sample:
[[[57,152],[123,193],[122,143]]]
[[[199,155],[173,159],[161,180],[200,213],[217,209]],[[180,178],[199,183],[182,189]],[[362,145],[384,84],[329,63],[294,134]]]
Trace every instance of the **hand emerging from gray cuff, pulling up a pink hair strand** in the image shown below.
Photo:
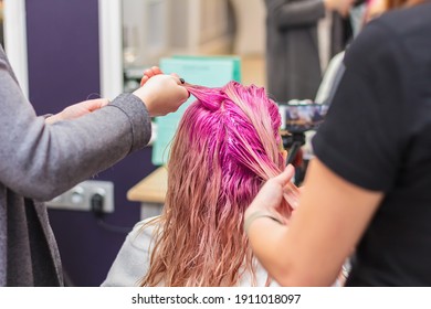
[[[134,95],[146,105],[149,116],[164,116],[176,111],[188,97],[189,92],[180,78],[172,75],[157,74],[149,78]]]

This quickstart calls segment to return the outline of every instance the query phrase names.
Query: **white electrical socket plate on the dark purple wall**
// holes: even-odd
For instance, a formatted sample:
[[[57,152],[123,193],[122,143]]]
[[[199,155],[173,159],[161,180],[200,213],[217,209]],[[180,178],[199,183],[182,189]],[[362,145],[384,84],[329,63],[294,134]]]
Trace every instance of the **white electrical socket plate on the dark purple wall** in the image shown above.
[[[92,198],[103,196],[103,212],[114,212],[114,183],[111,181],[86,180],[71,190],[46,202],[50,209],[92,211]]]

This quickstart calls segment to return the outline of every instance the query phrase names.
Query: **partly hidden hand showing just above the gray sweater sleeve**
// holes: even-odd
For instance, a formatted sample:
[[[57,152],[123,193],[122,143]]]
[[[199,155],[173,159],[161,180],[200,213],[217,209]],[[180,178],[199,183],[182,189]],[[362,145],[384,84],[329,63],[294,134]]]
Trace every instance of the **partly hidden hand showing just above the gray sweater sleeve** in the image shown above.
[[[66,120],[66,119],[73,119],[81,117],[83,115],[90,114],[96,109],[99,109],[104,106],[106,106],[109,103],[106,98],[96,98],[96,99],[88,99],[81,103],[76,103],[74,105],[71,105],[66,108],[64,108],[59,114],[55,114],[51,117],[48,117],[45,119],[46,124],[54,124],[56,121]]]

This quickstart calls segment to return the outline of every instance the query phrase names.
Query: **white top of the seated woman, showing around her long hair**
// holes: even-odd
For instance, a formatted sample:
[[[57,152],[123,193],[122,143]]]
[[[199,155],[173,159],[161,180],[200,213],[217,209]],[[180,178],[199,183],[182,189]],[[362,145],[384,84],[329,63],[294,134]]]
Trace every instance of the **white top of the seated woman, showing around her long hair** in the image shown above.
[[[153,220],[146,219],[138,222],[132,232],[127,235],[117,257],[112,265],[106,279],[103,281],[103,287],[136,287],[139,286],[139,280],[148,271],[149,259],[151,253],[151,239],[155,226],[143,225]],[[265,269],[256,262],[256,281],[257,286],[264,287],[267,278]],[[245,274],[239,286],[250,287],[251,276]],[[278,286],[275,280],[272,280],[272,287]]]

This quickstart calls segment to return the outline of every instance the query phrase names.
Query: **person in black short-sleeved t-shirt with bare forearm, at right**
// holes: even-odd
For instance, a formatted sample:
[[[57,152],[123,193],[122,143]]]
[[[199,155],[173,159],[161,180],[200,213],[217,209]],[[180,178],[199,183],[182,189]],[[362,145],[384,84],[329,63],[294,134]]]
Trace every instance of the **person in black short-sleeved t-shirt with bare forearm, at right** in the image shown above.
[[[292,167],[248,209],[252,248],[281,285],[330,285],[353,254],[347,286],[431,286],[430,33],[430,1],[369,22],[346,53],[288,230],[271,217]]]

